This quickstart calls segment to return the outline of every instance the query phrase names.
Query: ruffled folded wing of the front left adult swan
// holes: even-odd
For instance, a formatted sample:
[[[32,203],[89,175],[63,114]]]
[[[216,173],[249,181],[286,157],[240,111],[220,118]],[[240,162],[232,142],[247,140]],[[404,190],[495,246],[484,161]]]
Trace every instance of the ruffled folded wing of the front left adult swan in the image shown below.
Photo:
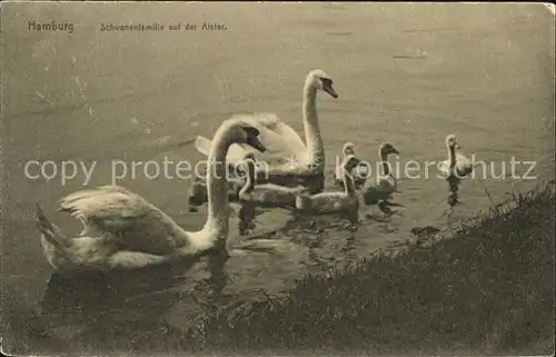
[[[70,194],[59,201],[61,211],[81,220],[82,235],[110,237],[151,254],[165,254],[178,244],[176,224],[142,197],[118,186],[101,186]]]

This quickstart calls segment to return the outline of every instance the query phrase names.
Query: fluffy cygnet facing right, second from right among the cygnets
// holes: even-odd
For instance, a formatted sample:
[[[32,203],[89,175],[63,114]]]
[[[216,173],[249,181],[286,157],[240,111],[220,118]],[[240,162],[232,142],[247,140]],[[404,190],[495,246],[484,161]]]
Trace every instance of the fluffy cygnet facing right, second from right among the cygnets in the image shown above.
[[[378,148],[378,159],[380,165],[380,173],[377,175],[376,180],[368,180],[363,188],[363,201],[365,205],[378,205],[384,212],[391,212],[387,206],[396,206],[388,199],[398,189],[396,177],[391,172],[390,162],[388,161],[389,155],[399,155],[399,151],[389,142],[383,142]]]

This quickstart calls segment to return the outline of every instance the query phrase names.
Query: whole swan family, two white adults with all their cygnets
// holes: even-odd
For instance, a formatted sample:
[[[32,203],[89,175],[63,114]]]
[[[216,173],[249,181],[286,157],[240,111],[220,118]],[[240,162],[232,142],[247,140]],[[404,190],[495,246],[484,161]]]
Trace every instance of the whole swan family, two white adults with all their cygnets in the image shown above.
[[[37,205],[37,226],[44,256],[59,272],[138,269],[186,259],[210,250],[226,250],[229,201],[290,208],[307,215],[338,214],[357,221],[359,201],[385,209],[397,191],[387,157],[399,155],[393,145],[379,148],[381,172],[376,180],[356,177],[359,160],[354,145],[344,146],[342,169],[336,184],[342,191],[325,191],[325,148],[317,116],[317,92],[338,98],[334,81],[312,70],[304,86],[305,141],[286,122],[270,113],[237,115],[222,121],[214,138],[197,137],[196,148],[207,156],[205,180],[196,180],[189,204],[207,202],[207,218],[199,231],[186,231],[141,196],[121,186],[79,190],[59,201],[59,210],[83,224],[78,237],[66,236]],[[446,178],[471,171],[469,160],[456,152],[456,137],[446,139],[448,159],[440,170]],[[259,165],[266,162],[264,170]],[[220,163],[220,165],[219,165]],[[221,165],[224,163],[224,165]],[[229,166],[245,177],[228,177]]]

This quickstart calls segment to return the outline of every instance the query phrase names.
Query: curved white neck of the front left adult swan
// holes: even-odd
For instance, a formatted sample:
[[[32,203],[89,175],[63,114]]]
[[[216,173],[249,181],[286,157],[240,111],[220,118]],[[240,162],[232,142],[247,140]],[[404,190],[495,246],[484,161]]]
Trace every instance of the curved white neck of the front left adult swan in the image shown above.
[[[215,133],[207,162],[207,221],[202,231],[214,242],[226,242],[229,227],[229,205],[226,155],[232,143],[228,138],[226,126]]]

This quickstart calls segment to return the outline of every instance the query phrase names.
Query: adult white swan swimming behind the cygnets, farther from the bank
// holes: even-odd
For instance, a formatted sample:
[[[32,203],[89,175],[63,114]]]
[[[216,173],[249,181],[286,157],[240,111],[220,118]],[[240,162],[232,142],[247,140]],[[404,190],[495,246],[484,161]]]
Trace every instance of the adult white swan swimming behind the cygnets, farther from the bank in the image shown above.
[[[258,172],[265,171],[257,175],[259,182],[297,186],[299,178],[317,177],[320,181],[315,184],[312,189],[322,190],[326,162],[316,101],[319,90],[338,98],[332,83],[334,81],[319,69],[311,70],[306,77],[302,102],[305,142],[276,115],[255,113],[246,120],[259,130],[260,141],[268,150],[261,155],[247,146],[234,145],[228,151],[228,162],[232,166],[240,165],[246,155],[251,152],[258,162],[265,163],[258,169]],[[210,140],[199,136],[195,146],[199,152],[207,155]]]

